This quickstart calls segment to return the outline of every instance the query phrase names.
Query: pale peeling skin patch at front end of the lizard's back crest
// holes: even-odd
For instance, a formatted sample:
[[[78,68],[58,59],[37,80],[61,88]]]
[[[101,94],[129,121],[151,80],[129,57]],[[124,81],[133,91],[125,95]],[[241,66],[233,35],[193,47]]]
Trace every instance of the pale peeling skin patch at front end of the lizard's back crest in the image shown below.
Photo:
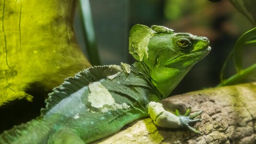
[[[110,80],[113,80],[115,77],[117,77],[122,72],[122,69],[118,65],[110,65],[108,69],[104,70],[102,72],[102,75],[109,78]]]

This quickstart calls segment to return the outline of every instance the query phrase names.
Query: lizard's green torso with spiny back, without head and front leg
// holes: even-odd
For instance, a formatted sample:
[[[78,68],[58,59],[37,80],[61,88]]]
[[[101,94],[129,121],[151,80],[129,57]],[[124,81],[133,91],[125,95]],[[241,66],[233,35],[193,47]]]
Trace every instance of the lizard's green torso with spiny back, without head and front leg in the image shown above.
[[[71,132],[77,139],[89,143],[147,116],[146,105],[152,101],[150,96],[156,97],[155,93],[150,82],[130,69],[130,65],[91,67],[53,89],[46,100],[46,108],[41,109],[39,120],[4,132],[0,142],[15,142],[21,137],[31,142],[31,135],[22,136],[24,132],[46,128],[35,134],[39,139],[33,142],[54,143],[60,135],[64,137]],[[26,142],[23,140],[24,144]]]

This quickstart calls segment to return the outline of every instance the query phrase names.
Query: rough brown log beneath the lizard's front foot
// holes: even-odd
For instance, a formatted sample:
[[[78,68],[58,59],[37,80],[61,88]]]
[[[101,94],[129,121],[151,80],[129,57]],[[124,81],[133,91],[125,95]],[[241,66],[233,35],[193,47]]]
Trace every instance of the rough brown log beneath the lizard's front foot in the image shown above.
[[[100,140],[101,144],[255,144],[256,83],[211,88],[161,101],[165,109],[192,113],[202,109],[202,122],[187,130],[171,130],[153,124],[150,118],[127,125],[122,131]],[[96,144],[95,143],[95,144]]]

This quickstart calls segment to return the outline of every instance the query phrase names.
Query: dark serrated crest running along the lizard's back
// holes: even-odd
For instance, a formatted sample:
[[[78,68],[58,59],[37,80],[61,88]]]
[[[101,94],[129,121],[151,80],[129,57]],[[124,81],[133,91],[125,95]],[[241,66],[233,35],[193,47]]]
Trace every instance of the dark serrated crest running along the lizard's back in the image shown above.
[[[102,79],[114,79],[122,71],[118,65],[95,66],[78,72],[73,77],[65,79],[58,87],[53,88],[49,98],[45,101],[46,108],[41,109],[41,115],[46,115],[49,110],[59,104],[63,99],[88,86],[90,83],[99,82]]]

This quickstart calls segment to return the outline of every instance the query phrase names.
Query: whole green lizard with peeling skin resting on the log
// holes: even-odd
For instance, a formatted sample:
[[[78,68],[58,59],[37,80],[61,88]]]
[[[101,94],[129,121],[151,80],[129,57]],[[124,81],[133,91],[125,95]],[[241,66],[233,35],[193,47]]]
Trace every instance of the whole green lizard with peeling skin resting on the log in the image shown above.
[[[130,31],[133,65],[95,66],[53,89],[41,116],[0,135],[2,144],[85,144],[118,132],[124,125],[150,116],[160,127],[186,128],[202,111],[184,116],[158,103],[169,96],[191,67],[210,51],[206,37],[153,25]]]

